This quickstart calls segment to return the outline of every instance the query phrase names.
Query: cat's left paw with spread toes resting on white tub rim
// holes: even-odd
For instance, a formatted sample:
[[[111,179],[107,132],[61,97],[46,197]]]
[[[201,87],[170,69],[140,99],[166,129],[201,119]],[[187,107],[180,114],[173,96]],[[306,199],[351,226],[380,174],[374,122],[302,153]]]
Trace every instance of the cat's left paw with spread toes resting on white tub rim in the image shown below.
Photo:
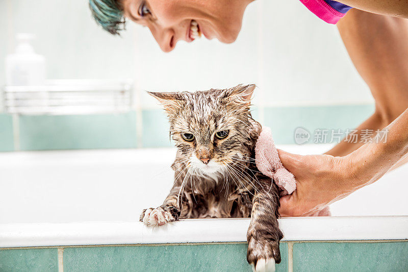
[[[149,227],[163,226],[167,222],[179,219],[180,211],[173,206],[161,206],[156,209],[148,208],[140,214],[140,221]]]

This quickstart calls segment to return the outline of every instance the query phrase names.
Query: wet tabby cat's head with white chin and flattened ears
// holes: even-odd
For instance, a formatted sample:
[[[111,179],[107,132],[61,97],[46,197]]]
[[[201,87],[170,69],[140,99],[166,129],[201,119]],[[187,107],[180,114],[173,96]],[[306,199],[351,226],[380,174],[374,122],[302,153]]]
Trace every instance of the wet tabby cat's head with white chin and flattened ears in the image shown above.
[[[248,156],[255,85],[196,92],[149,92],[164,106],[170,134],[188,167],[211,175]]]

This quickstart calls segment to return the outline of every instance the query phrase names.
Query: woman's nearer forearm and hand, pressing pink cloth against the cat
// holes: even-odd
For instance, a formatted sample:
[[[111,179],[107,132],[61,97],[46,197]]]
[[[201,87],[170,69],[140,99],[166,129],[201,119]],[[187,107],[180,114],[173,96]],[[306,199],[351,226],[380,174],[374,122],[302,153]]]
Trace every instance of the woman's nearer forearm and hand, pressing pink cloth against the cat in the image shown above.
[[[377,181],[408,154],[408,109],[385,128],[385,142],[369,142],[345,157],[300,156],[279,150],[296,177],[296,190],[281,198],[282,216],[309,216]]]

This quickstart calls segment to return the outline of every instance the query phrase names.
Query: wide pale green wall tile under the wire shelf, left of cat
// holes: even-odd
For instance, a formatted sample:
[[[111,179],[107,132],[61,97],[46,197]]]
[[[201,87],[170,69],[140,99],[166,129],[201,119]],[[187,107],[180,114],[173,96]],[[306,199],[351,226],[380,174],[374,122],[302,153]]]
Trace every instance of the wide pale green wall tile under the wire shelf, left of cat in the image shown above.
[[[136,147],[136,113],[20,116],[21,150]]]

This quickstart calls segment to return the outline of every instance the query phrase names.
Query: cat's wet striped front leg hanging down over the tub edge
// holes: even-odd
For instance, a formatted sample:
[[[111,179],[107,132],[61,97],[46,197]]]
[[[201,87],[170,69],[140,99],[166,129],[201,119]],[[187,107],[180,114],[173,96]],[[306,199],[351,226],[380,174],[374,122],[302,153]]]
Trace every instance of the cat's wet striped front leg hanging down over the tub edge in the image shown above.
[[[247,260],[254,271],[274,271],[281,262],[279,241],[283,233],[279,229],[278,188],[270,180],[259,179],[260,186],[253,197],[251,222],[247,232]]]

